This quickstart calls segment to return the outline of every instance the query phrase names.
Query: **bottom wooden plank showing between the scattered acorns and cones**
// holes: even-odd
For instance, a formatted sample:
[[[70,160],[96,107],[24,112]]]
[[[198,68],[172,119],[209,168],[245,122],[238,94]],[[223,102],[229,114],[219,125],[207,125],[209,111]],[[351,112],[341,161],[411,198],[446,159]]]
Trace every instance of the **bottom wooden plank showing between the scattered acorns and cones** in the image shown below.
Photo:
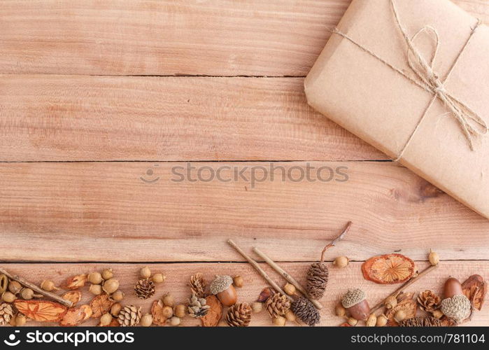
[[[425,262],[416,262],[420,269],[426,266]],[[281,264],[290,274],[295,276],[300,283],[305,283],[306,271],[309,267],[307,263],[283,263]],[[343,293],[346,293],[348,288],[362,288],[367,293],[367,300],[371,306],[380,302],[389,293],[391,293],[397,285],[383,286],[376,283],[365,281],[360,271],[360,262],[352,262],[348,267],[343,269],[337,269],[332,267],[329,272],[329,281],[327,286],[327,293],[320,302],[323,304],[321,310],[321,325],[339,325],[342,323],[341,318],[334,315],[334,306]],[[196,272],[204,273],[204,276],[208,280],[213,279],[215,274],[229,274],[235,276],[239,274],[243,276],[244,286],[238,289],[240,302],[254,302],[265,286],[266,282],[262,277],[255,272],[253,267],[246,263],[185,263],[185,264],[155,264],[149,265],[154,273],[163,272],[166,275],[166,281],[163,284],[157,285],[156,294],[153,299],[139,300],[136,298],[133,292],[134,284],[138,279],[139,269],[143,265],[127,265],[127,264],[4,264],[4,268],[10,272],[16,274],[22,274],[23,276],[29,276],[34,283],[41,283],[43,279],[53,279],[56,283],[62,283],[66,277],[74,274],[80,274],[85,272],[99,271],[106,267],[113,267],[115,270],[115,277],[120,280],[120,288],[125,291],[126,297],[124,304],[135,304],[141,306],[143,313],[150,311],[150,306],[153,300],[157,297],[161,297],[165,293],[171,293],[177,303],[183,303],[187,301],[190,296],[190,290],[187,286],[187,281],[190,276]],[[280,285],[285,284],[280,276],[278,276],[268,265],[262,267],[267,273]],[[454,276],[455,278],[464,281],[472,274],[481,274],[486,281],[489,279],[489,262],[488,261],[464,261],[464,262],[441,262],[441,265],[433,272],[425,276],[425,278],[414,283],[407,289],[409,292],[419,293],[426,289],[431,289],[435,293],[442,295],[442,287],[444,281],[448,276]],[[88,302],[91,299],[88,288],[83,288],[83,300],[82,302]],[[380,311],[379,311],[380,312]],[[422,311],[418,310],[418,314],[421,316]],[[98,320],[92,319],[90,323],[95,325]],[[470,323],[465,325],[487,325],[489,323],[489,306],[486,303],[481,311],[476,311],[474,317]],[[38,325],[52,325],[52,323],[37,323]],[[221,323],[224,325],[225,323]],[[29,323],[28,325],[34,325]],[[194,320],[190,317],[183,318],[182,325],[199,325],[198,320]],[[260,314],[253,314],[251,325],[271,325],[271,320],[266,311],[262,311]]]

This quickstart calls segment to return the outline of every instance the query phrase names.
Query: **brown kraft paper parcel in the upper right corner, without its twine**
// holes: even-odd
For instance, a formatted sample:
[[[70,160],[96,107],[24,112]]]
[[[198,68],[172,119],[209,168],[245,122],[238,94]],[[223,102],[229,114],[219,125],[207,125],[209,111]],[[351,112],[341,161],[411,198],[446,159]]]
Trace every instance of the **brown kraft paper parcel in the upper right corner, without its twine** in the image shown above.
[[[395,6],[410,38],[427,25],[437,31],[433,70],[441,78],[448,75],[444,88],[489,125],[489,28],[477,27],[471,38],[478,20],[448,0],[395,0]],[[353,0],[337,30],[418,79],[390,0]],[[433,36],[420,35],[415,45],[432,58]],[[402,165],[489,218],[489,135],[474,138],[472,151],[440,99],[427,109],[433,94],[338,34],[332,34],[304,85],[314,109],[390,158],[402,154]]]

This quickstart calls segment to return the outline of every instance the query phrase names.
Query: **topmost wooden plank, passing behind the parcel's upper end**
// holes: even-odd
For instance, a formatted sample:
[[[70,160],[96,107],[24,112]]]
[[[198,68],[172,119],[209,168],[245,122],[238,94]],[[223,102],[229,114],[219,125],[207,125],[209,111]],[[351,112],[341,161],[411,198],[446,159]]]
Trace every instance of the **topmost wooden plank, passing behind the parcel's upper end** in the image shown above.
[[[3,1],[0,73],[305,76],[349,3]]]

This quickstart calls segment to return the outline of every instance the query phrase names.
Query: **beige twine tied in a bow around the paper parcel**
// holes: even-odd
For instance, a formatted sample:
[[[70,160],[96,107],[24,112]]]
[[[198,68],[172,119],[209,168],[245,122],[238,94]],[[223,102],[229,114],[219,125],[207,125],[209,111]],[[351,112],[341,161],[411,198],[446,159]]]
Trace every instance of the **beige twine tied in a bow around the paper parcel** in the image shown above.
[[[446,108],[448,109],[448,113],[446,114],[453,116],[453,118],[455,118],[455,120],[458,121],[458,124],[460,125],[460,128],[462,129],[462,132],[464,133],[464,136],[467,139],[470,149],[474,151],[474,138],[481,136],[483,134],[487,134],[488,126],[486,125],[486,122],[479,116],[479,114],[474,112],[469,106],[467,106],[467,104],[461,102],[460,99],[454,97],[453,94],[451,94],[446,90],[445,82],[450,76],[450,74],[452,73],[456,64],[458,63],[460,56],[469,45],[469,42],[472,40],[472,37],[474,36],[476,29],[479,28],[479,26],[481,25],[481,21],[477,20],[476,26],[474,27],[474,29],[472,29],[471,34],[467,39],[465,45],[458,53],[458,56],[455,59],[455,62],[453,62],[451,69],[448,71],[446,76],[443,79],[441,79],[439,78],[439,75],[434,71],[434,62],[437,59],[439,45],[440,45],[439,34],[437,30],[430,26],[425,26],[421,28],[416,34],[414,34],[414,36],[409,38],[409,36],[406,34],[406,29],[402,27],[401,21],[399,20],[399,15],[397,12],[397,8],[395,6],[395,0],[390,0],[390,4],[392,7],[392,12],[394,13],[397,27],[399,27],[399,31],[401,31],[402,36],[404,37],[404,41],[406,41],[406,45],[408,47],[406,53],[406,60],[409,64],[409,68],[411,68],[413,73],[416,74],[416,77],[418,79],[411,78],[411,76],[408,76],[401,69],[392,66],[392,64],[385,61],[385,59],[379,57],[368,48],[365,48],[361,44],[357,43],[355,40],[353,40],[353,38],[350,38],[350,36],[348,36],[347,34],[344,34],[341,31],[339,31],[339,29],[335,28],[332,30],[332,32],[333,34],[338,34],[339,36],[348,39],[348,41],[357,45],[358,48],[360,48],[364,52],[369,53],[369,55],[375,57],[379,61],[383,62],[383,64],[389,66],[390,69],[393,69],[397,73],[404,76],[404,78],[410,80],[411,83],[418,85],[419,87],[423,88],[423,90],[426,90],[427,92],[430,92],[430,94],[432,94],[433,96],[430,104],[425,109],[423,116],[418,120],[418,123],[416,124],[416,127],[414,128],[413,132],[411,132],[408,141],[397,155],[396,161],[400,160],[404,155],[404,151],[406,151],[406,148],[409,146],[409,144],[411,144],[411,140],[413,139],[414,134],[416,134],[416,131],[418,131],[418,128],[422,123],[422,121],[424,120],[425,116],[427,115],[427,112],[430,110],[432,104],[434,104],[434,101],[436,101],[437,99],[443,102],[444,106],[446,106]],[[434,36],[435,45],[434,45],[434,50],[432,52],[432,57],[430,58],[429,61],[425,59],[425,57],[423,57],[422,52],[420,52],[420,50],[416,48],[415,45],[416,39],[421,34],[428,34],[428,35],[432,34]]]

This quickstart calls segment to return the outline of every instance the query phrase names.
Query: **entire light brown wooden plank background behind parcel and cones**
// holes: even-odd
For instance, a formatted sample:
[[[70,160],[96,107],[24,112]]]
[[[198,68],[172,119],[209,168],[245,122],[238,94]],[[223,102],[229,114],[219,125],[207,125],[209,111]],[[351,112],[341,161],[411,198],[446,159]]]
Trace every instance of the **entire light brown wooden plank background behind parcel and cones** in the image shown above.
[[[454,2],[489,19],[486,0]],[[143,309],[150,302],[131,293],[141,264],[164,270],[158,293],[180,302],[194,272],[242,274],[240,300],[251,302],[265,284],[227,238],[303,280],[352,220],[327,256],[353,262],[332,269],[323,325],[340,323],[332,309],[348,287],[371,304],[394,288],[362,279],[372,255],[398,251],[423,267],[438,251],[441,266],[411,290],[489,279],[489,221],[307,106],[304,76],[348,3],[1,1],[2,266],[35,282],[113,266]],[[171,181],[187,162],[248,179],[270,162],[293,176],[345,167],[348,181]],[[488,321],[486,306],[469,324]]]

